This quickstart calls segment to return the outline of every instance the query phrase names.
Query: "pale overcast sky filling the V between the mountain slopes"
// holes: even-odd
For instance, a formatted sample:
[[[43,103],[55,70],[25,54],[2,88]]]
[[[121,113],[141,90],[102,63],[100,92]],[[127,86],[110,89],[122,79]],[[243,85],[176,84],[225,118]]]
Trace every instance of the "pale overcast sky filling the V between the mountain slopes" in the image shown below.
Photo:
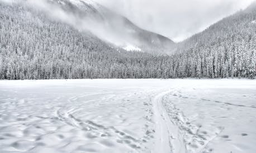
[[[254,0],[96,0],[141,28],[182,41]]]

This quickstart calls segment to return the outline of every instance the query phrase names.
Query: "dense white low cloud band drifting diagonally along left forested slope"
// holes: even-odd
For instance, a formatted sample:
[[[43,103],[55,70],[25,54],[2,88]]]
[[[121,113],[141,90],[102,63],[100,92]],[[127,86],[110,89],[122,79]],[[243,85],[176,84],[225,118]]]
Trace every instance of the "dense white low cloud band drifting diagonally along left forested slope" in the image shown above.
[[[119,33],[113,31],[111,27],[108,27],[102,21],[98,21],[94,17],[79,16],[77,13],[73,13],[64,10],[60,5],[51,4],[45,0],[27,0],[28,6],[36,7],[44,13],[46,13],[50,18],[59,20],[60,22],[67,23],[69,26],[78,29],[79,31],[91,32],[103,41],[110,42],[117,46],[124,45]]]

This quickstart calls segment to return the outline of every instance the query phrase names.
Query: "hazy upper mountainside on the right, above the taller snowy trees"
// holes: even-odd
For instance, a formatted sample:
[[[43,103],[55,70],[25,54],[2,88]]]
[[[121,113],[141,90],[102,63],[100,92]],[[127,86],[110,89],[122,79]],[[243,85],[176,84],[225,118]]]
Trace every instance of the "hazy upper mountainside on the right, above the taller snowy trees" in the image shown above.
[[[176,44],[176,50],[183,52],[191,48],[200,46],[211,46],[217,42],[234,42],[235,38],[245,40],[246,37],[254,36],[255,34],[255,12],[256,1],[244,10],[240,10],[235,14],[221,19],[219,22],[212,24],[204,31],[193,35],[192,37]],[[243,33],[243,34],[242,34]],[[229,40],[233,38],[233,40]]]

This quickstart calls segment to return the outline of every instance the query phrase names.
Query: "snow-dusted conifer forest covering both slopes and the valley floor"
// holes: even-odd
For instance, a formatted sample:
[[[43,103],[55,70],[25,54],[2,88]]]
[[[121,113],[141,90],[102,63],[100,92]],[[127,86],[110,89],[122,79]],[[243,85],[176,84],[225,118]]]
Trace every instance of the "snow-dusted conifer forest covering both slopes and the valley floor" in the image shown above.
[[[255,3],[157,56],[127,52],[36,9],[0,3],[1,80],[255,78],[255,69]]]

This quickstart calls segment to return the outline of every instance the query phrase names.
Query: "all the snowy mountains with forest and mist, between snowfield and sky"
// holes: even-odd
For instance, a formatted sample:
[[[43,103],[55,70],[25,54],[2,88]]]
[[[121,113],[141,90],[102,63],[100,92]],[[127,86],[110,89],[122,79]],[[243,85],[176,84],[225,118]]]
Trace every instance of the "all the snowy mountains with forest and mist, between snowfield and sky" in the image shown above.
[[[255,77],[255,3],[181,43],[94,1],[0,8],[1,79]]]

